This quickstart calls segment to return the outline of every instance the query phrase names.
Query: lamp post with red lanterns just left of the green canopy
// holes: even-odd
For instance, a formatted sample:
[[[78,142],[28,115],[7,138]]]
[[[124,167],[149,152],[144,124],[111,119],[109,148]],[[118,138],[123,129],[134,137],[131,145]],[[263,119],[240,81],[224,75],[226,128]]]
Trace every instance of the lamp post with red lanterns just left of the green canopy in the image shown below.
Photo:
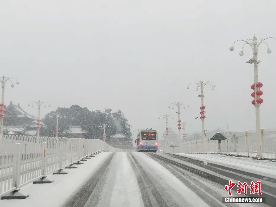
[[[204,87],[206,85],[210,85],[212,87],[212,90],[214,90],[214,87],[216,87],[215,83],[213,81],[207,81],[207,82],[203,82],[203,81],[199,81],[198,83],[190,83],[187,87],[187,89],[190,88],[191,84],[196,84],[196,91],[198,91],[198,89],[200,89],[201,93],[198,95],[198,97],[201,97],[201,107],[199,108],[201,111],[200,113],[200,119],[201,119],[201,140],[202,140],[202,150],[204,152],[204,142],[205,142],[205,130],[204,130],[204,119],[206,118],[205,114],[205,106],[204,106]]]

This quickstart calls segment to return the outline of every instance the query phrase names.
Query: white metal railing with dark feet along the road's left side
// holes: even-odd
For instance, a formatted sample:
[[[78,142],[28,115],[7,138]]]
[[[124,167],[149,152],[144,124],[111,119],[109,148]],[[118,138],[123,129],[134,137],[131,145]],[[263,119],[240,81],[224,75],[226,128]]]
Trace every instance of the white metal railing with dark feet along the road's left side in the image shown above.
[[[2,136],[0,197],[17,191],[28,183],[41,183],[50,173],[63,174],[61,172],[64,168],[73,168],[74,164],[82,163],[89,159],[88,156],[99,151],[133,150],[113,148],[99,139]]]

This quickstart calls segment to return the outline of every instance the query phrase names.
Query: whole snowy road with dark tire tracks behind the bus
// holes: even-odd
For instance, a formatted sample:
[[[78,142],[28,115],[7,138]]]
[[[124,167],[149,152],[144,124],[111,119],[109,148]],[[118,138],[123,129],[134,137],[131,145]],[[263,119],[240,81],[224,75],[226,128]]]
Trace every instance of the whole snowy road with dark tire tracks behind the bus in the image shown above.
[[[275,206],[275,178],[237,171],[229,166],[177,154],[110,153],[82,188],[63,207],[219,207],[267,206],[266,204],[223,204],[224,185],[232,181],[262,181],[266,204]],[[232,190],[237,195],[236,188]],[[256,195],[255,195],[256,196]]]

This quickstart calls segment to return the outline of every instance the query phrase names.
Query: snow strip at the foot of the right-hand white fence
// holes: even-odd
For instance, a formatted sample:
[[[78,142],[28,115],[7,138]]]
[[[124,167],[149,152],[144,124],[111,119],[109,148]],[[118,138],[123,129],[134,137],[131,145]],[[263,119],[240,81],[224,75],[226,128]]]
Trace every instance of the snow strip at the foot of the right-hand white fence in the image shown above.
[[[276,162],[271,162],[269,160],[257,160],[251,158],[233,157],[216,154],[175,154],[184,157],[191,157],[202,161],[207,161],[210,163],[217,163],[219,165],[235,168],[238,170],[248,171],[251,173],[256,173],[262,176],[276,178]]]

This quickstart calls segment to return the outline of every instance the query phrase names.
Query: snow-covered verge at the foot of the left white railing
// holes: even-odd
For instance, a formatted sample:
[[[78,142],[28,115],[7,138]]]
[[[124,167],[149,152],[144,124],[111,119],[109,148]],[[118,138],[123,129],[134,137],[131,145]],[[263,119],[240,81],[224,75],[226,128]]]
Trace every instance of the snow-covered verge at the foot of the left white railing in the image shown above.
[[[103,152],[91,157],[83,165],[76,165],[76,169],[64,169],[66,175],[47,176],[54,182],[51,184],[28,184],[20,188],[20,193],[30,195],[23,200],[0,200],[1,207],[59,207],[70,195],[91,177],[93,171],[101,165],[111,152]]]

